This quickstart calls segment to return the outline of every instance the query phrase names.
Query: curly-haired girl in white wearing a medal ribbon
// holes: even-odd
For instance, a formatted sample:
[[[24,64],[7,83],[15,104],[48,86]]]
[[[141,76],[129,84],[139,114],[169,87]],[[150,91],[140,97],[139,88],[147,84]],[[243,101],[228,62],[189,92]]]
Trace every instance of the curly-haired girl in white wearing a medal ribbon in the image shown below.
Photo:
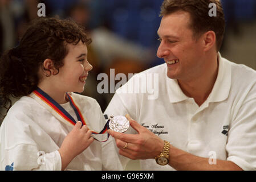
[[[112,138],[95,141],[105,119],[83,92],[91,43],[71,20],[39,18],[0,60],[1,170],[123,169]],[[21,97],[11,106],[10,97]],[[75,126],[74,126],[75,125]]]

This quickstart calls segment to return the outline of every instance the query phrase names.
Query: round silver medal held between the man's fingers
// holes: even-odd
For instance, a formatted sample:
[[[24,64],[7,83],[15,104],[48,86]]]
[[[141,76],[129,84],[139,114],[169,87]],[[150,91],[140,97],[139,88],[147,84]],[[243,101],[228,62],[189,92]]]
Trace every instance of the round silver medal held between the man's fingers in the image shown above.
[[[123,115],[117,115],[113,117],[113,115],[110,116],[110,121],[109,121],[109,129],[119,132],[119,133],[124,133],[125,131],[128,130],[130,123],[125,118]]]

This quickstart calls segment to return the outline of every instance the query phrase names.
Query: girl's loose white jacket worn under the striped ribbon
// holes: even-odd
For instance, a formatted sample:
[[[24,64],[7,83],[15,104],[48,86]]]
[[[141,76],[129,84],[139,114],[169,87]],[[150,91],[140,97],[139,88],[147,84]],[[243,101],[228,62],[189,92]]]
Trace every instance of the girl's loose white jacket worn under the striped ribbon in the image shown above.
[[[100,132],[105,119],[96,100],[70,93],[89,129]],[[76,119],[69,102],[61,105]],[[72,126],[56,119],[31,97],[22,97],[7,113],[0,128],[1,170],[61,170],[58,152]],[[66,170],[122,170],[115,142],[94,142],[76,156]]]

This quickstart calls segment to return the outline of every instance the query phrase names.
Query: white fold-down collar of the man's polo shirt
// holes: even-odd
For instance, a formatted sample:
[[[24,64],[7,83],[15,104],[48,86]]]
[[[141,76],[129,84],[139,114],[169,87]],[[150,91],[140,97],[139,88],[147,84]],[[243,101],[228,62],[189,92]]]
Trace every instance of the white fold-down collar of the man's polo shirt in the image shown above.
[[[212,92],[206,100],[208,102],[221,102],[226,100],[226,98],[229,96],[229,90],[231,87],[231,67],[225,62],[226,60],[221,57],[220,53],[218,53],[218,75]],[[180,86],[178,85],[178,81],[176,79],[168,78],[167,74],[165,74],[165,76],[169,101],[171,103],[175,103],[188,100],[189,97],[182,92]]]

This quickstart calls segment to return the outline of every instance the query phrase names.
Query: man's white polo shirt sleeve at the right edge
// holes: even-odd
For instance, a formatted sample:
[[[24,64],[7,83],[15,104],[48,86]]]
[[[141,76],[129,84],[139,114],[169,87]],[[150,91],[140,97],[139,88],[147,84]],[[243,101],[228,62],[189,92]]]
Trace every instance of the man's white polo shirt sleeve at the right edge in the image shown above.
[[[243,170],[256,170],[256,92],[247,96],[230,124],[227,160]]]

